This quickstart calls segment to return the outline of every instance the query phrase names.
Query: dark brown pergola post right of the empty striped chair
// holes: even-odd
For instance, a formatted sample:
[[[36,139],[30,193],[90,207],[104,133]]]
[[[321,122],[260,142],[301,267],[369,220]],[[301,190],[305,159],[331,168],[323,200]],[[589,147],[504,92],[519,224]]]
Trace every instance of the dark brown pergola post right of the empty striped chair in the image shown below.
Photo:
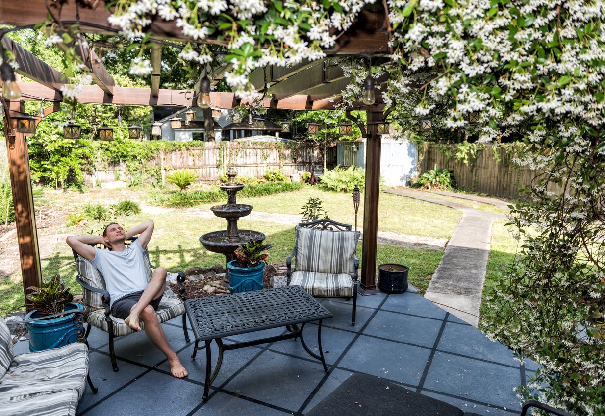
[[[382,111],[367,112],[365,135],[364,239],[361,255],[361,287],[359,293],[380,293],[376,288],[376,246],[378,242],[378,199],[380,196],[381,135],[376,125]]]

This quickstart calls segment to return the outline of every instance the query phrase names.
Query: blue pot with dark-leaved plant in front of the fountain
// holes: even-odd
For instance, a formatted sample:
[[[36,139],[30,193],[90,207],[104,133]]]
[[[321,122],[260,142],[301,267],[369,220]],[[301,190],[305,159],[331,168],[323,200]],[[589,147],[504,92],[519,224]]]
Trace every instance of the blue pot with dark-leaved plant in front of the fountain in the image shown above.
[[[273,244],[263,244],[263,240],[250,240],[238,245],[235,260],[227,263],[229,270],[229,290],[231,293],[258,290],[263,288],[264,265],[269,253],[265,253]]]

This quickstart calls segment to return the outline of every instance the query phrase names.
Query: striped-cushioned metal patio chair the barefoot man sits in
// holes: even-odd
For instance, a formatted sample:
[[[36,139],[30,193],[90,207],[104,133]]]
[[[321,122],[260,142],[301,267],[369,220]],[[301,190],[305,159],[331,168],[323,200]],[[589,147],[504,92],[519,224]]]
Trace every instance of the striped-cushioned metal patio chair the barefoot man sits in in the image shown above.
[[[132,237],[134,241],[136,237]],[[134,333],[135,331],[126,325],[123,319],[117,318],[111,315],[110,309],[110,293],[106,290],[105,279],[103,275],[93,266],[93,264],[87,259],[80,257],[73,250],[74,258],[76,259],[77,276],[76,281],[82,285],[82,296],[84,312],[87,314],[88,328],[86,330],[85,337],[88,337],[91,327],[99,328],[105,331],[109,335],[110,344],[110,358],[111,365],[114,371],[118,371],[116,362],[116,352],[114,351],[114,338],[123,335]],[[147,249],[143,252],[143,258],[147,265],[147,281],[151,280],[153,275],[152,269],[157,267],[151,264],[149,261],[149,252]],[[162,301],[158,306],[155,314],[158,322],[166,322],[179,315],[183,316],[183,333],[185,333],[185,340],[189,342],[189,334],[187,332],[187,322],[185,315],[185,273],[182,271],[168,270],[168,273],[177,273],[177,281],[180,285],[180,298],[172,299],[170,297],[162,297]],[[139,322],[141,329],[144,328],[143,322]]]

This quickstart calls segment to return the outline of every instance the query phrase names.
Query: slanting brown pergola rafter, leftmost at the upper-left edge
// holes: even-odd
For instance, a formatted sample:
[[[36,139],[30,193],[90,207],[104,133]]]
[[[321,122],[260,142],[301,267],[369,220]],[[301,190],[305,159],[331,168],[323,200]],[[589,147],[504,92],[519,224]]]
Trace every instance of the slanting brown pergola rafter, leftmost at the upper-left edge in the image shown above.
[[[16,73],[53,89],[53,96],[54,91],[60,91],[60,87],[65,83],[62,73],[42,62],[33,53],[25,50],[6,36],[2,38],[2,46],[15,54],[15,60],[19,64]]]

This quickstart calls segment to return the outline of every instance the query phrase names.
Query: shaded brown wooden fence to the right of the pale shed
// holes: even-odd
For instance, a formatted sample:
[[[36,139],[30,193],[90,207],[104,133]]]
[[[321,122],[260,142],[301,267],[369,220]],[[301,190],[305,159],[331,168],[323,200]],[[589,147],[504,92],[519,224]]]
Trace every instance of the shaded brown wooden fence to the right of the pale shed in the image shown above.
[[[454,146],[452,145],[451,149]],[[450,150],[451,150],[450,149]],[[517,166],[512,158],[514,153],[506,146],[495,149],[499,160],[494,157],[494,149],[487,146],[483,151],[477,152],[475,160],[456,161],[453,156],[440,151],[439,145],[425,144],[419,146],[418,167],[419,175],[434,169],[434,166],[454,171],[457,187],[472,189],[475,192],[489,193],[503,198],[520,198],[519,184],[528,186],[541,171],[529,169],[527,166]],[[549,184],[549,190],[559,191],[560,188]]]

